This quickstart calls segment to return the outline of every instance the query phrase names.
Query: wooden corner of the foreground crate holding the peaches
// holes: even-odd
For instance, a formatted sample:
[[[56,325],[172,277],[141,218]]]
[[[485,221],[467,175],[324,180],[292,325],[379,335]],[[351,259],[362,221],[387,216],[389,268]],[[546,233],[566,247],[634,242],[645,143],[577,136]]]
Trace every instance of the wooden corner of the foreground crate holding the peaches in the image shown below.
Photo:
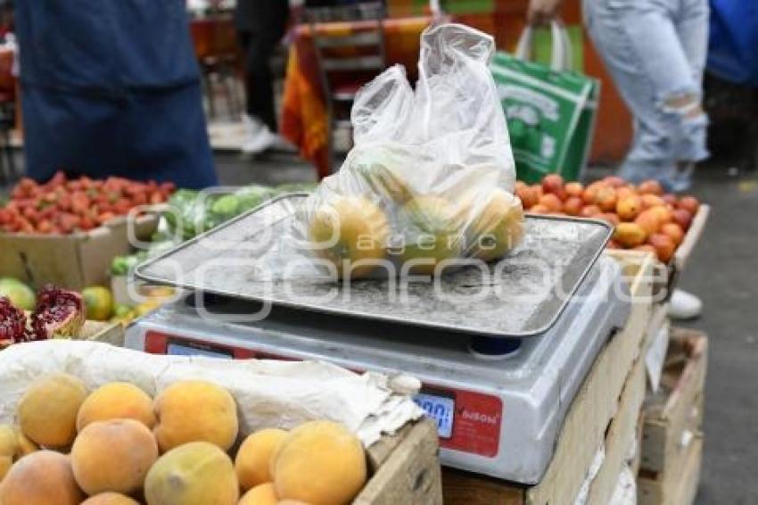
[[[428,418],[368,449],[371,479],[353,505],[441,505],[437,425]]]

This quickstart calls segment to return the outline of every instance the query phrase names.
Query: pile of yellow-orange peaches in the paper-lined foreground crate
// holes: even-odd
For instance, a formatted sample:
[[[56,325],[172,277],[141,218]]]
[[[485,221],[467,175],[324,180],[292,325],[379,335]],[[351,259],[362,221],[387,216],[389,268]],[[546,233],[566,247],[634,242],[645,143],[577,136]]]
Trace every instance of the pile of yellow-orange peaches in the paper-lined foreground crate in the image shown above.
[[[363,445],[345,426],[241,437],[237,410],[201,380],[153,400],[128,383],[89,392],[69,374],[40,377],[17,425],[0,425],[0,503],[347,505],[366,483]]]

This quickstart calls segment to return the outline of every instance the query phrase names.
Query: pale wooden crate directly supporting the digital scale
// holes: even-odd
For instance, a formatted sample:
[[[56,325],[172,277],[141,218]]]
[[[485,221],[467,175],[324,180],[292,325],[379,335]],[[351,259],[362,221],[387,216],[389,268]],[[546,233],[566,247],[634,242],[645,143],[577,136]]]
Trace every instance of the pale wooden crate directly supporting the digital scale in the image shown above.
[[[608,469],[600,468],[597,484],[593,482],[595,488],[590,490],[590,495],[594,492],[598,500],[601,499],[607,493],[606,485],[610,487],[610,493],[613,492],[620,466],[613,476],[611,466],[615,468],[616,461],[622,458],[622,449],[616,447],[621,447],[623,442],[629,443],[629,440],[615,443],[608,436],[633,436],[629,434],[636,429],[639,405],[645,393],[641,350],[651,313],[654,259],[652,254],[639,253],[639,260],[625,266],[634,301],[630,318],[622,331],[614,335],[598,354],[585,377],[566,414],[555,454],[540,484],[523,486],[443,468],[442,490],[446,503],[571,503],[589,476],[595,454],[604,443],[613,449],[614,463]],[[623,451],[627,447],[628,444]],[[613,484],[606,484],[609,480],[613,480]]]

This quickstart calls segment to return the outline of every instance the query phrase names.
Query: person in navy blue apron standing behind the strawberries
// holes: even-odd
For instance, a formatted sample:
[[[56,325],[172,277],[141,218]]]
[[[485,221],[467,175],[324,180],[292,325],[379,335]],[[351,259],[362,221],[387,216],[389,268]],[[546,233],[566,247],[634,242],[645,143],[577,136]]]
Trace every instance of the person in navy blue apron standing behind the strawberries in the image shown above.
[[[185,0],[15,7],[29,177],[217,184]]]

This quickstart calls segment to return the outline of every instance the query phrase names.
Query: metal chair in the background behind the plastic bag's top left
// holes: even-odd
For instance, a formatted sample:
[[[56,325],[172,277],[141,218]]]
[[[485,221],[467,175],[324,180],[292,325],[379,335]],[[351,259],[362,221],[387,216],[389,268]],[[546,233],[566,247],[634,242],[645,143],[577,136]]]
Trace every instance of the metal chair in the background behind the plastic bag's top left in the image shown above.
[[[324,89],[329,167],[334,170],[334,132],[350,125],[350,107],[358,89],[386,67],[384,54],[383,2],[365,2],[305,10],[316,52],[317,66]],[[345,34],[330,32],[325,25],[350,22]],[[347,113],[345,113],[347,112]],[[351,137],[351,136],[350,136]]]

